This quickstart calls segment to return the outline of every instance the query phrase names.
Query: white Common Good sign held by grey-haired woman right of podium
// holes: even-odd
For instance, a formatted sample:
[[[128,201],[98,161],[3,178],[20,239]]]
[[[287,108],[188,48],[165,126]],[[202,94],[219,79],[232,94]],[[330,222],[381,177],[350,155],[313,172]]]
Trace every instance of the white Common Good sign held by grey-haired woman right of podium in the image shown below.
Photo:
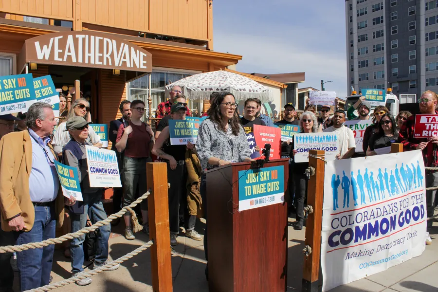
[[[338,137],[334,133],[301,133],[294,136],[295,162],[309,162],[310,150],[324,150],[325,160],[335,160],[339,154]]]

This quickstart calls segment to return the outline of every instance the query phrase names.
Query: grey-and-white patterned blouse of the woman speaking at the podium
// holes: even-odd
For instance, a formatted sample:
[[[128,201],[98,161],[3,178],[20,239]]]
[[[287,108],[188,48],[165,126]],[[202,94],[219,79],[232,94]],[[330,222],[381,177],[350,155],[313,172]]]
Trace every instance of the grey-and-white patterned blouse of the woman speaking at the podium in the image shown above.
[[[245,131],[240,126],[237,136],[223,132],[210,119],[202,122],[196,140],[196,150],[201,161],[202,169],[211,169],[215,165],[208,164],[210,157],[231,162],[243,162],[245,158],[251,156],[251,150],[246,140]],[[231,128],[231,126],[229,127]]]

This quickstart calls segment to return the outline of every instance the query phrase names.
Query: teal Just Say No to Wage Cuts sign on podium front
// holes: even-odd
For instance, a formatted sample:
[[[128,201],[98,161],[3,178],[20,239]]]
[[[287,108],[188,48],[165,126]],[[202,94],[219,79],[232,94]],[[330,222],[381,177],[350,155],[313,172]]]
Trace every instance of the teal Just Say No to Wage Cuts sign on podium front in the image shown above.
[[[239,212],[284,202],[284,167],[239,171]]]

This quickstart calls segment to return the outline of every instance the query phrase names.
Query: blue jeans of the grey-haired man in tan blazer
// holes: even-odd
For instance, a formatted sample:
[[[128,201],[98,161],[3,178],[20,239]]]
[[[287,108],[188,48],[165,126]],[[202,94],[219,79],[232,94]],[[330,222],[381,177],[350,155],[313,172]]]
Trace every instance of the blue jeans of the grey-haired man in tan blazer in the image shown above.
[[[39,242],[55,238],[55,204],[47,207],[35,206],[34,226],[29,232],[14,232],[17,244]],[[29,249],[17,253],[17,267],[20,271],[20,291],[48,285],[52,271],[55,245]]]

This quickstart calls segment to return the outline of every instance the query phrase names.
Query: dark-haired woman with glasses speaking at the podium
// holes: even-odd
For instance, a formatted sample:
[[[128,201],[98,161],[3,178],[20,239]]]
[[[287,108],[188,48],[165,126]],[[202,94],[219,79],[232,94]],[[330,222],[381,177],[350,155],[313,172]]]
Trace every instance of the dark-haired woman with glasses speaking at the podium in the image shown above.
[[[240,126],[240,119],[236,111],[237,103],[234,95],[222,91],[214,99],[205,119],[199,127],[196,149],[201,161],[202,169],[212,169],[234,162],[253,161],[250,158],[251,150],[246,140],[245,131]],[[205,175],[201,181],[202,201],[206,206]],[[208,224],[208,220],[207,220]],[[207,228],[204,234],[205,259],[207,258]],[[208,279],[208,264],[205,269]]]

